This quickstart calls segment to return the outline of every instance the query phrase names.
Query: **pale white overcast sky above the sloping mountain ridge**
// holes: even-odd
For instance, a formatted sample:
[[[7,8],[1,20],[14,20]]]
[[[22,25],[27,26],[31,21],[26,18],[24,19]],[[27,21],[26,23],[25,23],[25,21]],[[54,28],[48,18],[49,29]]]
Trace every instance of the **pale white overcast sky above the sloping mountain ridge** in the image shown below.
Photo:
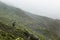
[[[25,11],[60,19],[60,0],[0,0]]]

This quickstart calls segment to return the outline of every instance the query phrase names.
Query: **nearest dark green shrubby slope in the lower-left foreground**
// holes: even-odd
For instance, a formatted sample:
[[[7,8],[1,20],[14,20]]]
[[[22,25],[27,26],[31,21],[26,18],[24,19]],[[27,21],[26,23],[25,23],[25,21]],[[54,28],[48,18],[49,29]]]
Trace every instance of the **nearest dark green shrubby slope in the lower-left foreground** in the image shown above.
[[[16,28],[13,26],[8,26],[0,22],[0,40],[28,40],[28,37],[31,37],[30,40],[35,40],[42,36],[37,36],[33,31],[25,28]],[[45,40],[45,39],[44,39]]]

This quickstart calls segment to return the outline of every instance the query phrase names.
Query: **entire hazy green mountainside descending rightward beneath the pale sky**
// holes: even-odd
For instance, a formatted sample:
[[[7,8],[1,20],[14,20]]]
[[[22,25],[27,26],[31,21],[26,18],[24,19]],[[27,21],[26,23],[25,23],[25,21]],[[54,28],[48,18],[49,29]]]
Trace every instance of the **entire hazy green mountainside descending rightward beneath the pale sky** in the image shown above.
[[[3,33],[2,36],[0,31],[1,40],[6,40],[7,38],[5,39],[5,37],[10,38],[12,36],[14,37],[10,38],[10,40],[16,38],[16,40],[26,40],[25,38],[27,38],[27,40],[28,38],[31,38],[29,40],[59,40],[60,38],[60,20],[31,14],[22,9],[8,6],[2,2],[0,2],[0,22],[0,30]],[[12,23],[14,22],[15,27],[12,26]],[[15,33],[17,29],[19,30]],[[4,34],[7,34],[7,36],[4,37]],[[26,37],[25,34],[30,37]],[[35,39],[35,36],[38,38]]]

